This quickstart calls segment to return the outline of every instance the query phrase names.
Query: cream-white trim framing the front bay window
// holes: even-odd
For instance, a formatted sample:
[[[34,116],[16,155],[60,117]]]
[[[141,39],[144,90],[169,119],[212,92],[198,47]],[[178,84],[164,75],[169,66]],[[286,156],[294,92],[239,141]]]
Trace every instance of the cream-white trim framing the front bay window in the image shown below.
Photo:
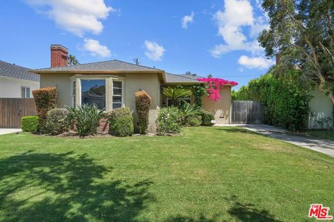
[[[113,110],[113,80],[122,82],[122,107],[125,107],[125,78],[113,75],[74,75],[70,78],[70,98],[72,99],[72,81],[76,81],[76,103],[81,107],[81,79],[106,81],[106,112]],[[73,102],[71,102],[73,103]],[[72,104],[74,105],[74,104]]]

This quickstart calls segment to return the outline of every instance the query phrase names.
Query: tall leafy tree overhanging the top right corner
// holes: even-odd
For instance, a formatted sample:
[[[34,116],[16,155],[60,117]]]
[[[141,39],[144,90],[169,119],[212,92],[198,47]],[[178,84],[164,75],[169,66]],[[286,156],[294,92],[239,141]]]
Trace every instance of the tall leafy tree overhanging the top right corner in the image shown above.
[[[279,55],[275,70],[299,69],[334,104],[334,1],[264,0],[270,28],[258,40],[269,58]]]

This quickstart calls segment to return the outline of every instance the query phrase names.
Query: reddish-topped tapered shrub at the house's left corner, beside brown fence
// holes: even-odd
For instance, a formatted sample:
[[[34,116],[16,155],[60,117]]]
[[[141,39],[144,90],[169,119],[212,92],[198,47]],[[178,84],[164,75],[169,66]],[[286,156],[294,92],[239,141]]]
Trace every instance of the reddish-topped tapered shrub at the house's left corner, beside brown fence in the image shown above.
[[[40,118],[39,123],[42,133],[45,132],[47,112],[56,108],[56,96],[57,89],[55,87],[33,90],[33,99],[35,100],[37,115]]]

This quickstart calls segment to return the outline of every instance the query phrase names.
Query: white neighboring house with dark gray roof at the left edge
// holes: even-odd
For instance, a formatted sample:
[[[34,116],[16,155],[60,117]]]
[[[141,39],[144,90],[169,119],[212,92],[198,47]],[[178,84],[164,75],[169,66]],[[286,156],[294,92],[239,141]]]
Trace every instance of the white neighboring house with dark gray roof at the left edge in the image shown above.
[[[31,91],[40,88],[40,76],[0,60],[0,98],[33,98]]]

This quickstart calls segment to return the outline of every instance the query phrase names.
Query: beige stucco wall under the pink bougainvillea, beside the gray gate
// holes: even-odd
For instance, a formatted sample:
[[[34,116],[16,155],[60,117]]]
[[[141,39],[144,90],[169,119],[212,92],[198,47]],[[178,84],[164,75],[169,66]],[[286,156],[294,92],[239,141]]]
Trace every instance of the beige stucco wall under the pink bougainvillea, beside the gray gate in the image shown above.
[[[230,123],[231,87],[223,87],[220,94],[221,99],[218,101],[212,101],[208,96],[203,96],[202,107],[214,113],[216,124],[228,124]]]

